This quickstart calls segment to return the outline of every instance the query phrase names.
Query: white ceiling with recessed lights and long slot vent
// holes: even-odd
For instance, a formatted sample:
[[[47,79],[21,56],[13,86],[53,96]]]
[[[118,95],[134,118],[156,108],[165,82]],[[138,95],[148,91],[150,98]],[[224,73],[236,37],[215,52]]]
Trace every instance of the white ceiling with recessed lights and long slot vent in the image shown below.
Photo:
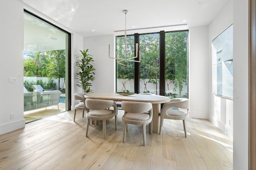
[[[228,0],[20,0],[72,31],[82,35],[124,35],[125,28],[138,29],[127,34],[174,31],[208,25]],[[183,22],[182,20],[187,21]],[[135,27],[132,27],[135,25]],[[92,31],[94,29],[95,31]]]

